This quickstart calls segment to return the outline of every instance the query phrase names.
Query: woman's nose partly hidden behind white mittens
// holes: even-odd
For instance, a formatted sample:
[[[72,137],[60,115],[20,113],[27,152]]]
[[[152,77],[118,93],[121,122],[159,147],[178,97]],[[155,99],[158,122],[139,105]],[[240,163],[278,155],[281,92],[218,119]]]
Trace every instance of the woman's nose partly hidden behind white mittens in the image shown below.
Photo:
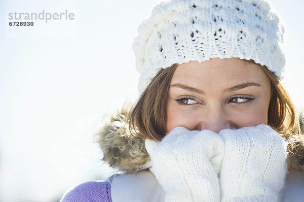
[[[222,110],[216,109],[201,117],[201,120],[199,120],[199,123],[197,125],[197,130],[208,129],[218,133],[224,128],[233,127],[236,126],[234,126],[233,122],[227,118],[225,113],[223,113]]]

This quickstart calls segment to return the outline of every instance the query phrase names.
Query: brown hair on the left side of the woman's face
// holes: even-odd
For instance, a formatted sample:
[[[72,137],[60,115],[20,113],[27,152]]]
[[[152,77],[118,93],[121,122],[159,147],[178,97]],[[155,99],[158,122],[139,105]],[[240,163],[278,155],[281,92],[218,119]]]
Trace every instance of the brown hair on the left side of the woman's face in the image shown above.
[[[127,117],[132,136],[160,141],[166,133],[166,100],[171,79],[177,68],[173,64],[161,69],[141,93]]]

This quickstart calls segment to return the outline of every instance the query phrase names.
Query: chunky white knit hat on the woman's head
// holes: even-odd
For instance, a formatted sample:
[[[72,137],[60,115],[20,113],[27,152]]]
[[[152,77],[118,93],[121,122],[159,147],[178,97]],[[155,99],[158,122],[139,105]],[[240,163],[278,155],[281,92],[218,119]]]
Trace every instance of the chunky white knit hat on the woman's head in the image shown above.
[[[210,58],[253,59],[283,78],[284,28],[264,0],[171,0],[157,5],[133,42],[139,92],[162,68]]]

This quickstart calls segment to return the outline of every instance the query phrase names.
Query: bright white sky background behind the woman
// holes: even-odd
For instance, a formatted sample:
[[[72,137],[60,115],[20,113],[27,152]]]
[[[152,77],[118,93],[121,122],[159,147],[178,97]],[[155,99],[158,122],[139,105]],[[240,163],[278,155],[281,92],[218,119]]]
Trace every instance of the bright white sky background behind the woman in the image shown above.
[[[93,128],[137,97],[132,42],[160,1],[0,0],[0,200],[57,201],[104,180]],[[304,1],[272,0],[285,24],[283,84],[304,107]],[[64,12],[74,20],[9,27],[10,12]]]

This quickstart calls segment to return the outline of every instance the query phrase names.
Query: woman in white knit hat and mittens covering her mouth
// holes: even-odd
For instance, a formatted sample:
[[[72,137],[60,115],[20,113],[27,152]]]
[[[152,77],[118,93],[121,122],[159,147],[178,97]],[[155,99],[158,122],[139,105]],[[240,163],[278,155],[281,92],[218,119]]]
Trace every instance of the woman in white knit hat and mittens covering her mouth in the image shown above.
[[[303,201],[282,37],[263,0],[155,7],[133,42],[140,97],[97,134],[103,160],[125,174],[62,201]]]

